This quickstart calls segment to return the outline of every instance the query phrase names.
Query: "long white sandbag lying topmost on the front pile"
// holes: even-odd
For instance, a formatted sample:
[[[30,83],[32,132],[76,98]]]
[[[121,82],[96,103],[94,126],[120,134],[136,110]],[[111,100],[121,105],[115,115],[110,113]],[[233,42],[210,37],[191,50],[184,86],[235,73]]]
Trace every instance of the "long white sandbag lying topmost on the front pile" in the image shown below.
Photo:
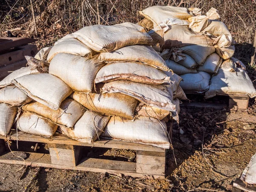
[[[128,22],[112,26],[86,26],[73,35],[96,52],[111,52],[127,45],[151,45],[153,42],[142,26]]]

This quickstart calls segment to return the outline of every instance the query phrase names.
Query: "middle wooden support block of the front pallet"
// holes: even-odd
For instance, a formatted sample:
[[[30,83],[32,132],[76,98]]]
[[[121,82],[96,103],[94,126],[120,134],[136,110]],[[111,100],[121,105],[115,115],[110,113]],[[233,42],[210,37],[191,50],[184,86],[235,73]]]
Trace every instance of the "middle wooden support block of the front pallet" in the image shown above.
[[[81,146],[49,144],[52,164],[76,166],[81,157]]]

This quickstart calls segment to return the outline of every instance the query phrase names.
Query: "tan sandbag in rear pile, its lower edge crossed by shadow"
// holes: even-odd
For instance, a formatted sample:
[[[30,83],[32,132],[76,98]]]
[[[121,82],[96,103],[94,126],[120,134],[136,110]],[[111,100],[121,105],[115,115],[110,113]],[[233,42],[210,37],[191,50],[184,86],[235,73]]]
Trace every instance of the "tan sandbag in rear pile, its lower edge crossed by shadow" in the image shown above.
[[[164,35],[163,49],[185,47],[189,45],[212,45],[213,40],[206,35],[196,35],[187,26],[174,25]]]

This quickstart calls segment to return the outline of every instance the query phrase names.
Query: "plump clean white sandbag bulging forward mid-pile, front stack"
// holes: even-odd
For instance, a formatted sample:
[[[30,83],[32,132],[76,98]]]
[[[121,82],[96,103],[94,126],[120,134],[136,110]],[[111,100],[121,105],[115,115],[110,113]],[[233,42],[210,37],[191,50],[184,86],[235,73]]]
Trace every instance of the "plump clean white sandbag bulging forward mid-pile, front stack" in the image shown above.
[[[59,53],[50,62],[49,73],[59,77],[75,91],[89,93],[93,81],[104,63],[93,63],[93,59]]]

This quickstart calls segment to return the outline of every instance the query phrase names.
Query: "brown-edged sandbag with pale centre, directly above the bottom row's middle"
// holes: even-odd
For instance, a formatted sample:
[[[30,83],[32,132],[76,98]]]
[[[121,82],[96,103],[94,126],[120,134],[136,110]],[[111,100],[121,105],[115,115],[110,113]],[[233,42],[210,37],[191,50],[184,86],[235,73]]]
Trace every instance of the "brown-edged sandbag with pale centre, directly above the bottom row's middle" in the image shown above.
[[[107,116],[121,116],[127,119],[134,118],[137,99],[121,93],[78,93],[72,95],[73,99],[89,110]]]

